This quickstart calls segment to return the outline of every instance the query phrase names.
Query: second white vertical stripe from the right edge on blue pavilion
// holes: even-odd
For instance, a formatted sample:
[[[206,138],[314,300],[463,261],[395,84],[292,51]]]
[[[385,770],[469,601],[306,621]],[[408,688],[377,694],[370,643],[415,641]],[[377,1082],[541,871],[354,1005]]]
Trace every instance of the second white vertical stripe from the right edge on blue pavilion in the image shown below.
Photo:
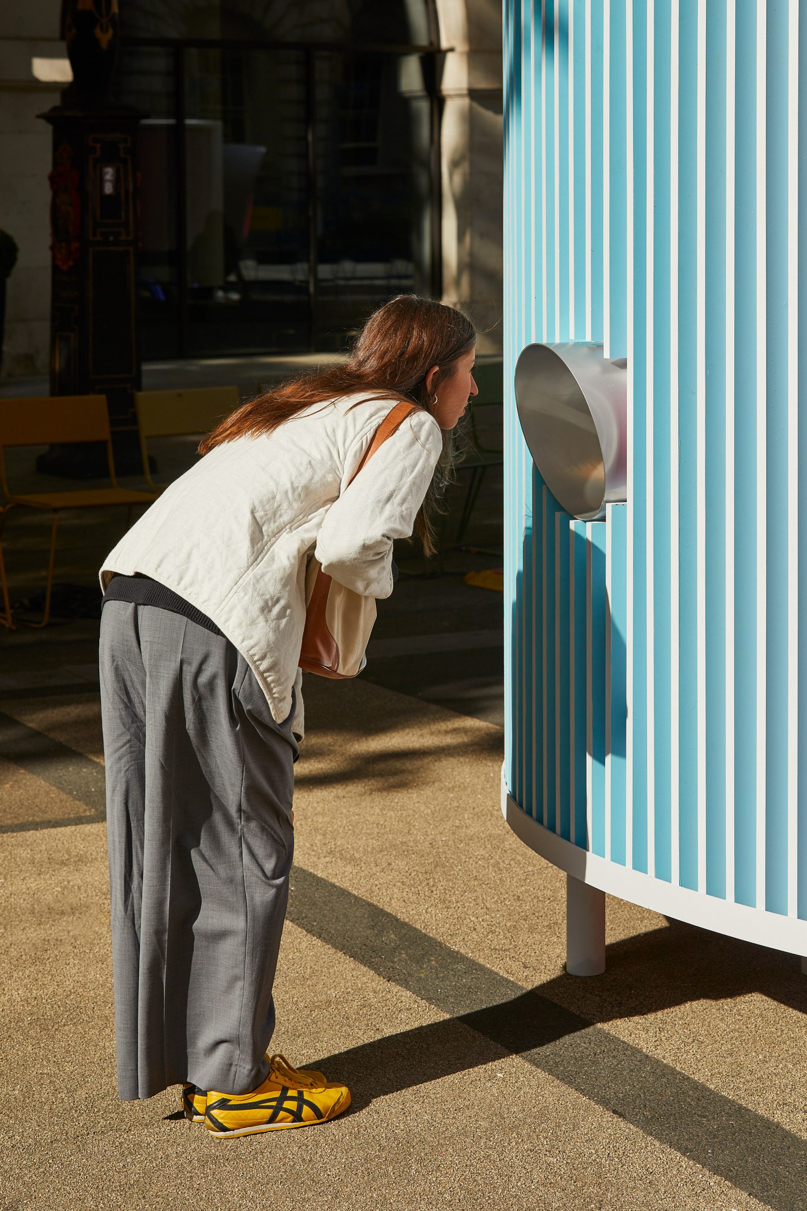
[[[766,16],[756,11],[756,397],[767,390],[767,249],[766,237]],[[756,409],[756,907],[765,908],[765,780],[767,664],[767,434],[765,408]]]

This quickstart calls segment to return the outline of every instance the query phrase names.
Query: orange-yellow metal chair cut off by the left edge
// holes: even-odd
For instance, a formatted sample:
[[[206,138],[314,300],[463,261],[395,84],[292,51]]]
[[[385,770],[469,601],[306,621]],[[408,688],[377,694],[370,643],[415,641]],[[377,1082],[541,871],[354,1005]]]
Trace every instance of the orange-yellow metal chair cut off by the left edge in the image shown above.
[[[5,448],[12,446],[50,446],[51,443],[105,442],[106,463],[109,466],[109,488],[79,488],[70,492],[36,492],[19,494],[8,488],[6,480]],[[134,505],[150,505],[156,500],[152,492],[133,492],[120,488],[115,478],[113,461],[113,442],[109,432],[109,414],[106,397],[103,395],[63,395],[42,396],[39,398],[0,400],[0,585],[5,618],[4,626],[15,629],[8,598],[8,581],[2,557],[2,530],[11,509],[50,510],[53,513],[51,527],[51,551],[47,562],[47,586],[45,590],[45,614],[41,622],[31,626],[46,626],[51,615],[51,592],[53,589],[53,562],[56,557],[56,529],[59,512],[63,509],[105,509],[109,505],[128,505],[129,513]]]

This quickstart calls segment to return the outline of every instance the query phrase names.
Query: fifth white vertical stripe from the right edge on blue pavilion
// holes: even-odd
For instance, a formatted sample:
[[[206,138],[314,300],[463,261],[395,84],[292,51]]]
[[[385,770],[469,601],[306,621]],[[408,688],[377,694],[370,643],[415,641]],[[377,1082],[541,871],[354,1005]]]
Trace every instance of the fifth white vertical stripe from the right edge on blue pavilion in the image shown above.
[[[680,556],[679,556],[679,0],[670,4],[670,866],[679,883]]]

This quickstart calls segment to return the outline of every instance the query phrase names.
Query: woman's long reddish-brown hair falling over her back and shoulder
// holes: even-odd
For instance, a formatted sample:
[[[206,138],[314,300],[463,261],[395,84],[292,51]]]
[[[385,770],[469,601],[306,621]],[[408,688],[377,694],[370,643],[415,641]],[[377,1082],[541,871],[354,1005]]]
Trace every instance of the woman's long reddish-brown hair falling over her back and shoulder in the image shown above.
[[[362,328],[347,363],[329,366],[281,383],[249,400],[200,443],[200,454],[236,437],[258,437],[315,403],[369,391],[369,400],[408,400],[433,412],[434,392],[454,373],[460,357],[477,343],[471,321],[455,308],[415,294],[399,294],[374,311]],[[426,375],[438,367],[432,396]],[[415,527],[426,555],[434,553],[434,513],[440,510],[442,489],[450,478],[451,435],[443,436],[443,455],[421,505]]]

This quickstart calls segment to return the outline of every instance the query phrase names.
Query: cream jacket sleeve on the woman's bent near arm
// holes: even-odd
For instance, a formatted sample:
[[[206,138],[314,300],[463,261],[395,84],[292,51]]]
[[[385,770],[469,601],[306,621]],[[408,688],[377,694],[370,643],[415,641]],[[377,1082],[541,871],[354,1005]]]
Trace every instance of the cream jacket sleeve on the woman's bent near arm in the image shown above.
[[[393,539],[411,534],[442,448],[439,426],[425,412],[379,447],[325,513],[315,555],[327,575],[364,597],[390,596]]]

